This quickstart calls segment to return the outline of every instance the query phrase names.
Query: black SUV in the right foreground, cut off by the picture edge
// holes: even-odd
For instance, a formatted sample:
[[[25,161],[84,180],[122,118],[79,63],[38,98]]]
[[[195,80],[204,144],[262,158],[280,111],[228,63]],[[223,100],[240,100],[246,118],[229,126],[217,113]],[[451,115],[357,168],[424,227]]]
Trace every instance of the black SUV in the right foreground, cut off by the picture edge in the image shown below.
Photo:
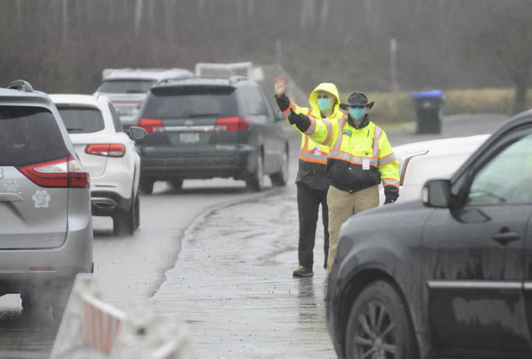
[[[532,358],[532,111],[423,200],[347,220],[327,298],[339,358]]]

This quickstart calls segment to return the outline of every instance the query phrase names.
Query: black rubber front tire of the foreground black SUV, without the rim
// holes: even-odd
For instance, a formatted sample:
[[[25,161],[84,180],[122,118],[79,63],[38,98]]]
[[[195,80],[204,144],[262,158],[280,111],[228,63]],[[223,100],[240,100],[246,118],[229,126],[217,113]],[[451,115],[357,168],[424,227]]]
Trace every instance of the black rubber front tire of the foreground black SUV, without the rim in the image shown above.
[[[366,310],[370,301],[378,301],[387,309],[394,328],[396,342],[395,359],[415,359],[418,358],[414,330],[411,328],[407,317],[407,308],[393,286],[386,281],[374,281],[369,283],[355,299],[351,307],[351,313],[346,328],[346,338],[344,340],[345,358],[358,359],[357,353],[353,352],[353,338],[358,325],[358,317]]]

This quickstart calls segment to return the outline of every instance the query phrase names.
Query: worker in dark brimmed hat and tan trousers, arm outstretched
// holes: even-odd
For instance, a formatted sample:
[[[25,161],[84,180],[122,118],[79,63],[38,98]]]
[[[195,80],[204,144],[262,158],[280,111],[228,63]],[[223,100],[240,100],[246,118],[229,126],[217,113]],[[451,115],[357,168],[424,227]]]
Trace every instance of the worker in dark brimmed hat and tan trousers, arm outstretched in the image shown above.
[[[399,196],[399,167],[386,133],[369,121],[368,103],[362,92],[354,92],[341,103],[347,116],[316,119],[291,111],[288,121],[310,139],[329,148],[327,174],[330,187],[329,254],[327,274],[335,259],[340,225],[351,215],[379,204],[378,184],[382,182],[386,200],[393,203]]]

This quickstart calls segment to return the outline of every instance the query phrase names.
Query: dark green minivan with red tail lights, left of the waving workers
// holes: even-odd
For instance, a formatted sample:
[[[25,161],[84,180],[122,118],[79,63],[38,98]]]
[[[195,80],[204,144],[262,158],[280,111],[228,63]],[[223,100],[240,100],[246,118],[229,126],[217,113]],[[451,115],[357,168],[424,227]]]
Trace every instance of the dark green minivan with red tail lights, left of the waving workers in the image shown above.
[[[164,80],[150,88],[137,125],[148,132],[139,146],[141,191],[166,180],[233,177],[254,191],[264,175],[285,186],[288,143],[281,117],[254,81],[232,78]]]

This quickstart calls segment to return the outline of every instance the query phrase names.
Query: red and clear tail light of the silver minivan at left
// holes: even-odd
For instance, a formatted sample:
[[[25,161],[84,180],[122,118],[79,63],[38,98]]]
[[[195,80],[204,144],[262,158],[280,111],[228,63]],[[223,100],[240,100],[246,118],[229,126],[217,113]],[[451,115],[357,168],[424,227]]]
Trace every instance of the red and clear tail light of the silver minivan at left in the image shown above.
[[[85,172],[77,159],[64,157],[42,164],[19,166],[18,170],[41,187],[64,187],[88,189],[89,173]]]

